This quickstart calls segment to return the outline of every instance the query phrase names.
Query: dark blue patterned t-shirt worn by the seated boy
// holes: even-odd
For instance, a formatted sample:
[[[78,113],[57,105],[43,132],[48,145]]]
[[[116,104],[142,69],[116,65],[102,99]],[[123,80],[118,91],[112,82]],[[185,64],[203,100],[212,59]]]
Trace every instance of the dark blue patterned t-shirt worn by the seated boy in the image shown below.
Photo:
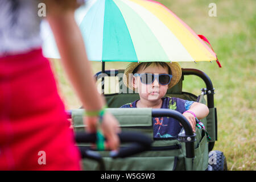
[[[188,110],[193,101],[183,100],[181,98],[176,97],[164,97],[162,98],[162,106],[163,109],[173,109],[179,111],[181,114],[184,111]],[[122,108],[130,108],[130,107],[137,107],[137,101],[134,101],[129,104],[125,104],[121,106]],[[170,138],[170,137],[177,137],[177,134],[180,133],[181,126],[179,122],[170,117],[155,117],[152,118],[153,122],[153,130],[154,130],[154,138]]]

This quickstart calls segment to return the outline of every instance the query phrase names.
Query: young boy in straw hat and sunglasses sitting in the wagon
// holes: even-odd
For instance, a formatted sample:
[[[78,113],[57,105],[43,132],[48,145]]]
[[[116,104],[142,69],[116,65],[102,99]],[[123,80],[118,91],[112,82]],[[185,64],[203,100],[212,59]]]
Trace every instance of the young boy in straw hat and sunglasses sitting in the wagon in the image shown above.
[[[132,74],[132,75],[131,75]],[[195,132],[196,119],[207,117],[209,109],[199,102],[164,97],[167,89],[176,85],[181,78],[181,68],[177,63],[148,62],[131,63],[125,69],[124,83],[130,89],[137,89],[140,100],[121,107],[151,107],[179,111],[188,119]],[[154,138],[176,137],[181,125],[174,118],[153,118]]]

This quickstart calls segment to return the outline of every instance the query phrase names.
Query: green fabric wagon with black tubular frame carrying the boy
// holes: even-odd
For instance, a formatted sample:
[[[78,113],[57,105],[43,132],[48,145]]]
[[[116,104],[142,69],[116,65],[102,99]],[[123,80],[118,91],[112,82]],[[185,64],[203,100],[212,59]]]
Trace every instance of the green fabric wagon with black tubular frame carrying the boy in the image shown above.
[[[104,64],[102,72],[98,72],[95,77],[106,81],[106,77],[115,77],[118,80],[119,92],[104,94],[109,108],[107,109],[119,121],[122,131],[134,131],[147,135],[152,140],[152,145],[147,151],[127,158],[113,159],[109,157],[109,151],[98,151],[102,156],[106,170],[226,170],[226,159],[221,151],[213,151],[214,143],[217,140],[217,110],[214,107],[214,88],[210,78],[197,69],[182,69],[183,76],[179,83],[167,91],[166,96],[178,97],[184,100],[197,101],[207,104],[209,115],[202,119],[205,130],[211,140],[207,140],[204,129],[196,129],[192,132],[187,119],[177,111],[170,109],[151,108],[118,108],[123,104],[139,99],[138,93],[134,93],[129,88],[123,88],[123,70],[105,71]],[[104,74],[102,79],[101,74]],[[205,82],[206,88],[201,89],[201,94],[182,91],[182,83],[186,75],[199,76]],[[104,84],[102,84],[103,90]],[[206,97],[206,99],[205,99]],[[76,133],[84,131],[86,126],[82,122],[83,109],[71,110],[72,123]],[[174,117],[184,130],[181,130],[178,138],[153,138],[152,117]],[[90,144],[77,143],[81,152],[88,150]],[[122,144],[126,147],[126,144]],[[101,164],[102,165],[102,164]],[[83,159],[85,170],[98,170],[100,163],[92,159]]]

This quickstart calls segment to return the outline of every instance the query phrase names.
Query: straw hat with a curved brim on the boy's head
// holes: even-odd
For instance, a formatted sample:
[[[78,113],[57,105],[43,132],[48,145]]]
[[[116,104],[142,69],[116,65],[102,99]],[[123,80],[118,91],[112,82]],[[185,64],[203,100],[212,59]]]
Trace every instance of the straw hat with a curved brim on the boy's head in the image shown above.
[[[145,62],[143,62],[145,63]],[[168,85],[168,89],[172,88],[172,86],[176,85],[177,82],[179,82],[181,75],[182,75],[182,71],[180,68],[180,65],[176,62],[164,62],[168,65],[168,67],[170,67],[171,72],[172,72],[172,78],[171,78],[171,82]],[[136,67],[138,67],[138,65],[140,65],[142,63],[131,63],[128,65],[128,67],[125,69],[124,75],[123,75],[123,83],[130,88],[131,90],[134,90],[132,83],[132,76],[129,77],[129,74],[133,73],[134,69]]]

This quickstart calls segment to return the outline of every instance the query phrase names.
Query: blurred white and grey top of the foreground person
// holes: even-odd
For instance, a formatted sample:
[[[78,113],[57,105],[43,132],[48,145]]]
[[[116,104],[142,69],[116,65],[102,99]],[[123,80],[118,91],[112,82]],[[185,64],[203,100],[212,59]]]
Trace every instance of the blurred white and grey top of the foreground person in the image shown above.
[[[0,55],[14,55],[41,47],[36,0],[0,1]]]

